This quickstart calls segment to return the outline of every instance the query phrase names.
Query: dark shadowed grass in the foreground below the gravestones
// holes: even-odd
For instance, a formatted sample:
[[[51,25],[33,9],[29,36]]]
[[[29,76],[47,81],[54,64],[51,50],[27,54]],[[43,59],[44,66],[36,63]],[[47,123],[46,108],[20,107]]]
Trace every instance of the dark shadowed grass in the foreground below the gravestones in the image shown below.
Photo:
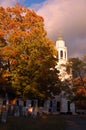
[[[65,119],[59,115],[44,115],[38,119],[8,117],[0,122],[0,130],[65,130]]]

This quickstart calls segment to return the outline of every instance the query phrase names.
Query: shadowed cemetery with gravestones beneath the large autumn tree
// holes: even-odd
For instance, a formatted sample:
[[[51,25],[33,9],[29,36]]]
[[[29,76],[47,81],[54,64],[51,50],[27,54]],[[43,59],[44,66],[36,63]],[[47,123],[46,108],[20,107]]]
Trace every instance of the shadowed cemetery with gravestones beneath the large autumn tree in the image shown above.
[[[9,116],[37,119],[44,114],[58,115],[63,113],[67,114],[68,112],[72,114],[72,111],[70,111],[69,108],[65,107],[65,104],[62,106],[60,102],[55,99],[43,101],[37,99],[23,100],[22,98],[18,98],[15,99],[15,101],[10,102],[10,100],[5,97],[0,101],[2,101],[0,102],[1,122],[4,123],[6,123]]]

